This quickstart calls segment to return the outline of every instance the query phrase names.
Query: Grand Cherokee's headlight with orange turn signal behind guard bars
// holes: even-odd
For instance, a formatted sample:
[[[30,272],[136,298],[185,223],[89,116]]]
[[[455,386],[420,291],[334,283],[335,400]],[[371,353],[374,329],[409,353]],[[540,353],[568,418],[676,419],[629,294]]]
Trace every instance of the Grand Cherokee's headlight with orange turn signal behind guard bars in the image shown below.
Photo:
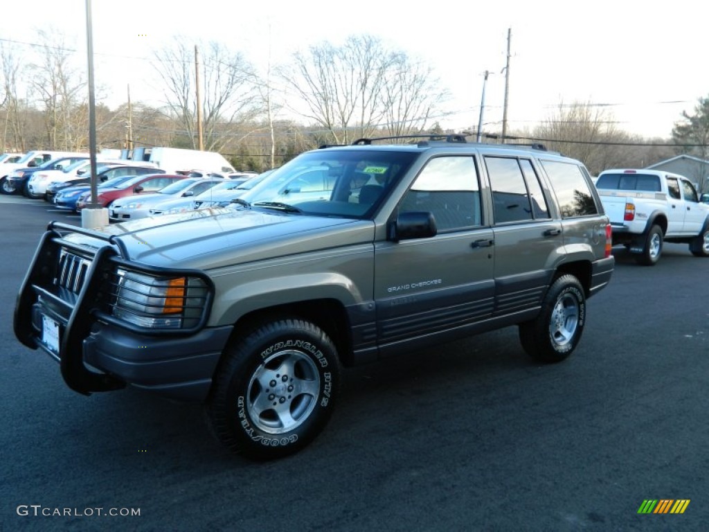
[[[206,309],[208,287],[196,277],[153,277],[118,270],[113,316],[145,328],[192,328]]]

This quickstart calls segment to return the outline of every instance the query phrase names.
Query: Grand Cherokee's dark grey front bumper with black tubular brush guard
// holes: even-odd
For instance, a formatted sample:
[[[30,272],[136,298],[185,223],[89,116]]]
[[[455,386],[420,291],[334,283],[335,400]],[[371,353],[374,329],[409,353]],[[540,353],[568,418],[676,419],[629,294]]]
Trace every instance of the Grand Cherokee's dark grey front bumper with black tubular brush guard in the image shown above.
[[[74,245],[62,240],[58,231],[69,228],[113,244],[99,248],[90,259],[72,263],[77,272],[83,269],[72,277],[77,279],[77,287],[81,285],[74,292],[57,282],[60,274],[55,266],[61,250]],[[86,249],[81,251],[86,253]],[[129,265],[128,258],[113,236],[50,224],[18,294],[15,336],[24,345],[45,350],[55,358],[65,382],[76,392],[88,395],[132,384],[172,399],[203,400],[233,328],[206,328],[208,312],[191,328],[175,331],[133,326],[106,314],[102,310],[106,278],[116,264]],[[191,270],[150,269],[203,276]],[[204,308],[210,306],[211,293]]]

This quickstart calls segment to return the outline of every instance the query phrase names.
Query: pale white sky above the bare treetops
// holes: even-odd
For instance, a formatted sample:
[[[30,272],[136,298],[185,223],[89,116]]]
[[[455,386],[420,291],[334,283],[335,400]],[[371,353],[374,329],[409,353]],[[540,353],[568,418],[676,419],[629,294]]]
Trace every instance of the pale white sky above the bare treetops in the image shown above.
[[[452,94],[444,128],[479,120],[483,72],[484,131],[499,133],[507,33],[512,31],[508,129],[532,128],[557,106],[605,104],[618,128],[669,137],[682,111],[709,96],[705,50],[709,7],[702,2],[627,0],[354,2],[232,0],[91,0],[96,84],[105,103],[159,104],[150,70],[153,50],[173,35],[219,40],[264,71],[296,50],[350,35],[375,35],[435,70]],[[0,42],[36,43],[36,28],[57,28],[86,66],[86,0],[24,0],[5,6]],[[7,43],[10,44],[10,43]],[[28,50],[29,45],[20,45]],[[611,116],[612,113],[612,116]]]

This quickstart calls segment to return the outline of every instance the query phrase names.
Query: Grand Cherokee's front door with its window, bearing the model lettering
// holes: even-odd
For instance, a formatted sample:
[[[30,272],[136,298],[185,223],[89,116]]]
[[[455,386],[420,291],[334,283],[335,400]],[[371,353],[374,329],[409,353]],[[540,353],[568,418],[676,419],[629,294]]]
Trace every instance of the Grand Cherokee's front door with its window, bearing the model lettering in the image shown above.
[[[475,158],[432,158],[398,211],[432,213],[437,235],[376,244],[379,345],[451,331],[491,316],[495,246],[481,217]]]

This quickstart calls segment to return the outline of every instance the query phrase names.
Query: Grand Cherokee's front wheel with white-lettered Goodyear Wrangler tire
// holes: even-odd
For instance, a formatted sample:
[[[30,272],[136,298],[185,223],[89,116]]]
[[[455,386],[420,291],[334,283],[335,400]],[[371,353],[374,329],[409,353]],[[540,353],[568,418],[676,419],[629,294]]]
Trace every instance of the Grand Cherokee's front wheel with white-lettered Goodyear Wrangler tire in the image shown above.
[[[318,326],[264,324],[225,352],[208,403],[213,432],[252,460],[295,453],[325,427],[339,384],[335,345]]]

